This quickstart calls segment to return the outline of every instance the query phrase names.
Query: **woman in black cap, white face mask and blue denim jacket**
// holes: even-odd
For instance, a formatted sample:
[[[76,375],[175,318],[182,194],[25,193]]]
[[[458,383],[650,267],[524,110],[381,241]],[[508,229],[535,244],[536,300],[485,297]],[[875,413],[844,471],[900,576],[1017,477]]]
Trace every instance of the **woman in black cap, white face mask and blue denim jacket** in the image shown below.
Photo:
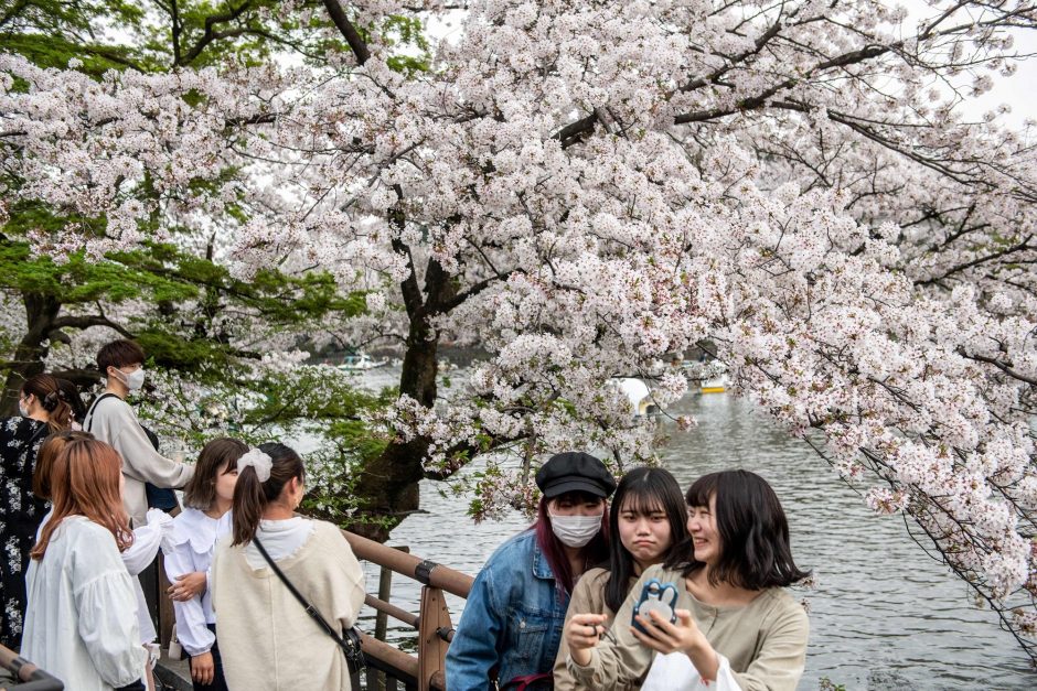
[[[549,688],[573,587],[608,559],[616,481],[605,464],[587,453],[557,454],[536,485],[536,522],[498,548],[472,584],[447,651],[450,691]]]

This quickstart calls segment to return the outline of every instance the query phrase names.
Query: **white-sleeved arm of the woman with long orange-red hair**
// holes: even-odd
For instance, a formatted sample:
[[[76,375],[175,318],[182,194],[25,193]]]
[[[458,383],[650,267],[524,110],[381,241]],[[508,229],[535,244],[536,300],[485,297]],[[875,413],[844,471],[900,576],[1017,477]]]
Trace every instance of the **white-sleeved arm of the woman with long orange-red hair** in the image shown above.
[[[143,674],[148,652],[137,628],[137,595],[121,564],[95,575],[75,591],[78,634],[94,668],[119,688]]]

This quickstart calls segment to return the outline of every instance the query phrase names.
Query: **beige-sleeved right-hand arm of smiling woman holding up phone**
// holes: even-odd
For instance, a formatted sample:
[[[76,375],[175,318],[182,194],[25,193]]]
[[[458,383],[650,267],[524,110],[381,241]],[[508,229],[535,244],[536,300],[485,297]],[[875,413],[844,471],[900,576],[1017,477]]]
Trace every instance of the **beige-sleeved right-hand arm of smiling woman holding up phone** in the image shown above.
[[[745,672],[734,672],[744,691],[795,691],[803,676],[810,619],[798,602],[783,600],[765,618],[760,654]]]

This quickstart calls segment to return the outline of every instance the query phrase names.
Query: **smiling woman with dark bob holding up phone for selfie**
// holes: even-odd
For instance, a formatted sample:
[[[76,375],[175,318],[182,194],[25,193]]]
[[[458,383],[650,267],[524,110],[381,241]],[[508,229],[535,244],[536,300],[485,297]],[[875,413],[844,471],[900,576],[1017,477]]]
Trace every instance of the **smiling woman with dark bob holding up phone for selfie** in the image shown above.
[[[685,565],[646,569],[603,636],[602,615],[575,614],[566,629],[569,671],[596,689],[643,679],[644,690],[794,690],[809,622],[784,589],[809,573],[792,560],[781,503],[747,471],[701,477],[686,499]],[[654,609],[633,616],[653,579],[676,591],[673,622]]]

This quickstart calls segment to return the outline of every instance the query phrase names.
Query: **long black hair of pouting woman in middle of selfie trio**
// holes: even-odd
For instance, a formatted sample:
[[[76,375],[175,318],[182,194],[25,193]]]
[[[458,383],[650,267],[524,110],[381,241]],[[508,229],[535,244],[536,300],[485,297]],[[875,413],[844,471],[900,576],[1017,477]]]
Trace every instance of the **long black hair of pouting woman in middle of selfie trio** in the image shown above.
[[[670,471],[663,468],[639,467],[623,475],[616,494],[612,495],[612,510],[609,514],[609,533],[612,540],[609,544],[609,576],[605,584],[605,604],[612,612],[619,612],[630,593],[630,579],[637,575],[633,557],[619,537],[619,515],[623,510],[648,515],[660,509],[666,514],[670,521],[672,539],[663,560],[667,565],[672,560],[683,564],[688,538],[687,509],[681,494],[681,485]]]

